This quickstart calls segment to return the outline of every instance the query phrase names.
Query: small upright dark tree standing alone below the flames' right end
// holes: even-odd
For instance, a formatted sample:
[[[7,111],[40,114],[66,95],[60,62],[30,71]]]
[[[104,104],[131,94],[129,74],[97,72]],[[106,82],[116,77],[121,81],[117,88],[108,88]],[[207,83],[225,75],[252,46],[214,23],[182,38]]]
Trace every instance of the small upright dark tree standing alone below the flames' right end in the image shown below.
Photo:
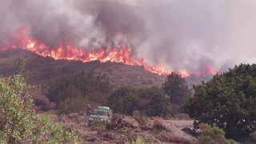
[[[186,98],[189,96],[185,78],[174,72],[167,76],[166,82],[163,84],[163,90],[169,95],[170,102],[180,106],[185,104]]]

